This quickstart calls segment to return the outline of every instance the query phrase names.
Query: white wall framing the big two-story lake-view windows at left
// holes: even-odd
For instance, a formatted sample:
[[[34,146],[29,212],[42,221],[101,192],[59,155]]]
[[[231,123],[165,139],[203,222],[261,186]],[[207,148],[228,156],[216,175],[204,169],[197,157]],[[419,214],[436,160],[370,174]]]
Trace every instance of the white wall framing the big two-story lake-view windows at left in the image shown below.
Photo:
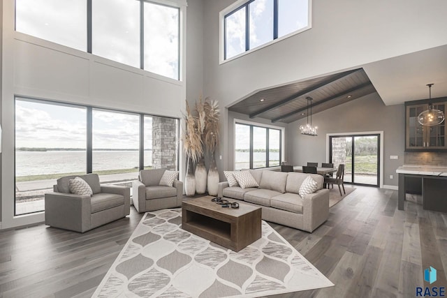
[[[186,27],[185,2],[177,1]],[[14,96],[44,98],[167,117],[182,117],[186,83],[125,66],[14,31],[14,0],[3,3],[3,126],[1,211],[3,228],[43,221],[44,214],[13,217]],[[185,57],[185,32],[181,33]],[[194,39],[193,33],[191,38]],[[199,37],[200,38],[200,37]],[[182,59],[181,77],[185,77]],[[183,170],[183,158],[180,159]]]

